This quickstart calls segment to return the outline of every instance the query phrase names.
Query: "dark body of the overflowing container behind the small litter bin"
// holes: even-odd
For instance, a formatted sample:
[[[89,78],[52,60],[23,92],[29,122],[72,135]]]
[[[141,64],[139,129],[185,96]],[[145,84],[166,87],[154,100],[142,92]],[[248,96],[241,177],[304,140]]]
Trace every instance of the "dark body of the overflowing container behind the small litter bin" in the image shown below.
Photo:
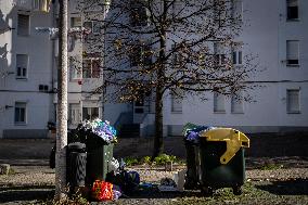
[[[93,134],[87,139],[87,178],[86,183],[91,187],[99,180],[105,180],[110,172],[108,164],[113,158],[113,143],[106,143],[100,137]]]

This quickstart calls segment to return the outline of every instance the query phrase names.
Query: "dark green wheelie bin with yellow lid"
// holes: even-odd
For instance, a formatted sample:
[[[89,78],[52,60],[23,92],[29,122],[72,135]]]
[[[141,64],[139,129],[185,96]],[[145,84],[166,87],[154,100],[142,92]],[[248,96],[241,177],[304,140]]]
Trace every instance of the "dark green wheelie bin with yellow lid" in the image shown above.
[[[245,181],[244,148],[249,139],[232,128],[215,128],[200,132],[201,190],[211,195],[215,189],[232,188],[242,193]]]

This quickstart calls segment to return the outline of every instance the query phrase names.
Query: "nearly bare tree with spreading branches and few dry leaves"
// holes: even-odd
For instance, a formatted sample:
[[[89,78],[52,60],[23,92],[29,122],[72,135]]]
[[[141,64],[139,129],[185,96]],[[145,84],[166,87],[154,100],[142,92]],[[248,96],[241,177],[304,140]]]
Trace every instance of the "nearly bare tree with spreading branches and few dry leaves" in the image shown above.
[[[231,95],[253,87],[245,82],[256,69],[252,55],[234,66],[231,54],[241,47],[233,40],[242,28],[239,1],[115,0],[102,21],[104,35],[85,39],[92,51],[104,53],[104,82],[112,89],[112,98],[133,102],[153,93],[153,157],[163,152],[163,100],[167,92],[204,99],[205,92]],[[105,4],[87,2],[92,2],[91,7]]]

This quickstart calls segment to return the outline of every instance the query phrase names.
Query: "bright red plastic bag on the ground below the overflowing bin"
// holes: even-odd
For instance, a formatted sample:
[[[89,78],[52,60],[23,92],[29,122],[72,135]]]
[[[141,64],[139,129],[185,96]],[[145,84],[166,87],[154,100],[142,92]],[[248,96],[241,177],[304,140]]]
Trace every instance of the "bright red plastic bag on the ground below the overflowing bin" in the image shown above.
[[[113,184],[110,182],[95,180],[92,187],[92,197],[98,201],[113,200]]]

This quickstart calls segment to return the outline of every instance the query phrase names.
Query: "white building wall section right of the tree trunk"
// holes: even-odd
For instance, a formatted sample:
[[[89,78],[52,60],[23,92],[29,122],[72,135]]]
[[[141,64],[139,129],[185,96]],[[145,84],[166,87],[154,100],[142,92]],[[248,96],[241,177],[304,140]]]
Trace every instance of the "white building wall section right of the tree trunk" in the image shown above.
[[[213,93],[208,101],[197,98],[183,101],[182,114],[172,114],[169,98],[166,98],[164,123],[170,134],[181,134],[185,123],[207,126],[235,127],[247,132],[279,132],[308,130],[308,2],[299,1],[299,21],[286,21],[285,1],[243,0],[243,31],[234,39],[243,41],[244,54],[258,56],[261,73],[251,80],[261,88],[251,91],[255,102],[244,102],[243,114],[231,113],[230,99],[226,99],[224,113],[214,113]],[[299,40],[299,67],[287,67],[286,40]],[[300,114],[287,114],[286,90],[300,90]]]

